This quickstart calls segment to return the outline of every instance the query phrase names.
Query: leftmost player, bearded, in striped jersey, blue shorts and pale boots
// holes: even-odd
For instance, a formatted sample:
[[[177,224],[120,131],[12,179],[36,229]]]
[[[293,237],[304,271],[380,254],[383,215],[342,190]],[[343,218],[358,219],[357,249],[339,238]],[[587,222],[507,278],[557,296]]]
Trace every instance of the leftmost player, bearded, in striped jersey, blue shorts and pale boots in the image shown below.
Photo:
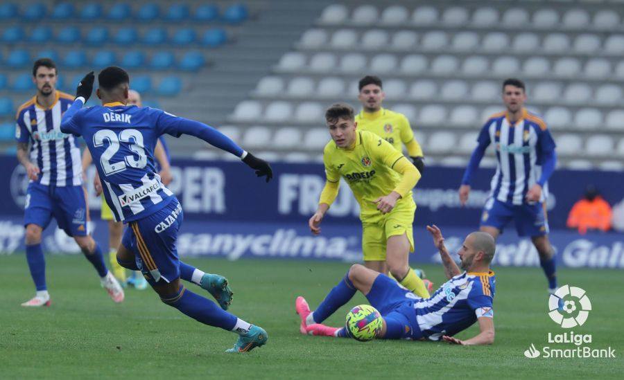
[[[52,218],[76,240],[112,300],[122,302],[123,289],[106,268],[100,246],[87,233],[89,210],[80,175],[80,148],[76,138],[60,129],[61,116],[73,97],[57,91],[57,80],[58,71],[52,60],[35,61],[33,82],[37,95],[21,105],[16,116],[17,159],[30,179],[24,205],[26,260],[37,289],[35,297],[21,306],[40,307],[51,303],[41,234]]]

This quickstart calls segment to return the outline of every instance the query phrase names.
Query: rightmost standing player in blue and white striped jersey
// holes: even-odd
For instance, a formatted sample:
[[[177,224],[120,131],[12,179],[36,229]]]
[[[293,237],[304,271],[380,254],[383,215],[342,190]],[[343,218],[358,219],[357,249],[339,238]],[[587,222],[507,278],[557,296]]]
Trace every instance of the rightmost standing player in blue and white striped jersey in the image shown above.
[[[492,115],[477,138],[459,189],[460,202],[468,201],[470,183],[488,145],[496,150],[496,174],[492,191],[483,208],[480,230],[494,239],[512,220],[519,236],[530,236],[539,253],[539,264],[548,279],[548,292],[557,290],[555,252],[548,240],[546,197],[548,179],[557,165],[555,142],[546,123],[527,111],[524,83],[517,79],[503,82],[506,111]]]

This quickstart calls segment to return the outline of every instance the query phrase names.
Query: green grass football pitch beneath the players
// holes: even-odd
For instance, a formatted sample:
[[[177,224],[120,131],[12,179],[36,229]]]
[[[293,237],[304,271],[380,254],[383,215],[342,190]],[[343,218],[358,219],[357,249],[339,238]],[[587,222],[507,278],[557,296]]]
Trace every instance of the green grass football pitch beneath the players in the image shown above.
[[[546,280],[539,268],[496,269],[494,345],[372,341],[303,336],[295,297],[318,305],[349,264],[339,262],[189,259],[227,278],[234,289],[230,311],[264,327],[267,345],[247,354],[225,354],[236,335],[207,327],[159,301],[153,291],[126,290],[114,305],[82,257],[46,255],[49,308],[26,309],[33,284],[24,255],[0,256],[0,378],[107,379],[358,379],[358,378],[620,378],[624,372],[622,271],[563,269],[560,284],[587,291],[592,310],[574,334],[591,334],[591,348],[612,347],[616,359],[528,359],[523,352],[548,343],[562,329],[548,317]],[[424,266],[436,285],[441,267]],[[187,284],[196,293],[208,293]],[[342,325],[360,294],[327,320]],[[476,325],[458,334],[468,338]]]

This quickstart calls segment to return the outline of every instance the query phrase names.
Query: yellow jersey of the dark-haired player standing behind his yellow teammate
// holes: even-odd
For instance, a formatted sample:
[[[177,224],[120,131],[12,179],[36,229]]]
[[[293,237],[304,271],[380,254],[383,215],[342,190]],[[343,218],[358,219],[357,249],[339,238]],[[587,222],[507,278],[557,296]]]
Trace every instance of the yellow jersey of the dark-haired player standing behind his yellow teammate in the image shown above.
[[[358,129],[381,136],[399,152],[403,152],[402,144],[408,144],[412,140],[415,141],[409,120],[404,114],[399,114],[399,112],[384,108],[372,113],[360,111],[356,115],[355,120],[358,123]],[[415,142],[417,151],[410,152],[410,156],[423,156],[422,148],[417,141]]]

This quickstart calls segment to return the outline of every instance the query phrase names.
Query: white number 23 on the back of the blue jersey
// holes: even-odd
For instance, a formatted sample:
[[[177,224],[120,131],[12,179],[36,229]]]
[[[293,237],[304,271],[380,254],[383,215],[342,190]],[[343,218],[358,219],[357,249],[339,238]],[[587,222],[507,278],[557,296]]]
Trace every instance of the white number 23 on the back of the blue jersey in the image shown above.
[[[93,136],[93,145],[103,147],[104,141],[108,142],[108,147],[100,157],[102,169],[106,175],[123,172],[126,168],[145,168],[147,165],[147,157],[143,149],[143,135],[137,129],[123,129],[119,132],[119,136],[110,129],[100,129]],[[115,153],[119,150],[119,141],[122,143],[130,143],[130,150],[135,152],[139,159],[130,154],[123,158],[123,161],[110,162]]]

